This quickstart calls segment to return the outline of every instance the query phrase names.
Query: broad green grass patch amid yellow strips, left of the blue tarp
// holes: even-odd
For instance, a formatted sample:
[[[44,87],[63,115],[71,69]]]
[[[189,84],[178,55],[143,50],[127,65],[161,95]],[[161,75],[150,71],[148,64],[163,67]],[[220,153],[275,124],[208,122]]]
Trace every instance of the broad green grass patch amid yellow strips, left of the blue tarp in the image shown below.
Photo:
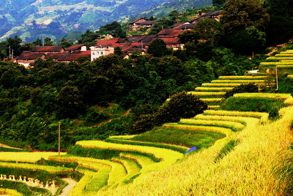
[[[210,131],[191,131],[156,127],[151,131],[136,135],[131,140],[135,140],[137,142],[141,141],[161,144],[174,144],[186,146],[189,148],[196,146],[198,149],[200,149],[208,148],[209,146],[213,145],[216,140],[224,137],[225,135],[222,133]]]

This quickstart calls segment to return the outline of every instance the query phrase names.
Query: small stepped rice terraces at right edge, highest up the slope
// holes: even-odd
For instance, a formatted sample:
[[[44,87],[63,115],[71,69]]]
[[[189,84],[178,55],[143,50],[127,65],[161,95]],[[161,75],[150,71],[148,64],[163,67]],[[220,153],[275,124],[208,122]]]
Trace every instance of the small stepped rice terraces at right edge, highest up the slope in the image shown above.
[[[267,62],[260,64],[261,72],[275,72],[277,67],[281,73],[293,73],[293,50],[287,50],[276,54],[274,57],[268,57]]]

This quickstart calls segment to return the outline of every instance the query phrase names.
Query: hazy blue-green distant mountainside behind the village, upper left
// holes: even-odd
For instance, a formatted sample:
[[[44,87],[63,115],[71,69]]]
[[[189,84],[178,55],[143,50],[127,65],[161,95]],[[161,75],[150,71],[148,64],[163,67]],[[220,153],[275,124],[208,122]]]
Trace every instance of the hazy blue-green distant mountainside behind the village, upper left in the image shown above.
[[[24,43],[44,39],[45,36],[56,40],[71,31],[93,31],[109,22],[127,22],[145,11],[148,15],[154,13],[159,17],[171,9],[183,11],[211,4],[211,0],[167,1],[0,0],[0,40],[14,35],[20,36]]]

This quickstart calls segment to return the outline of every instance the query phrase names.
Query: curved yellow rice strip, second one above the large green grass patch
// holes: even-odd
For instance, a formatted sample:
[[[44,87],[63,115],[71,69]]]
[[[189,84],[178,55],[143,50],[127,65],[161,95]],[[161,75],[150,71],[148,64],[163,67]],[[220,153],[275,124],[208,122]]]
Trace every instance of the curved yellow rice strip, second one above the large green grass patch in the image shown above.
[[[245,126],[241,123],[232,121],[220,121],[220,120],[196,120],[196,119],[180,119],[182,123],[192,123],[192,124],[203,124],[203,125],[226,125],[232,126],[237,129],[243,129]]]

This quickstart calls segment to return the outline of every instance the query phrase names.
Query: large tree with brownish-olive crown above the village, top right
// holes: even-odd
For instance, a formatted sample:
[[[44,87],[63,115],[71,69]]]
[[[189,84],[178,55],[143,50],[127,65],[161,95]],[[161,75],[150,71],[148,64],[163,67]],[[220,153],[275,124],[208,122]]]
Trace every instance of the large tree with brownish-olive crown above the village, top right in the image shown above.
[[[270,16],[260,4],[260,0],[227,0],[222,14],[227,34],[238,33],[253,25],[263,30],[270,21]]]

